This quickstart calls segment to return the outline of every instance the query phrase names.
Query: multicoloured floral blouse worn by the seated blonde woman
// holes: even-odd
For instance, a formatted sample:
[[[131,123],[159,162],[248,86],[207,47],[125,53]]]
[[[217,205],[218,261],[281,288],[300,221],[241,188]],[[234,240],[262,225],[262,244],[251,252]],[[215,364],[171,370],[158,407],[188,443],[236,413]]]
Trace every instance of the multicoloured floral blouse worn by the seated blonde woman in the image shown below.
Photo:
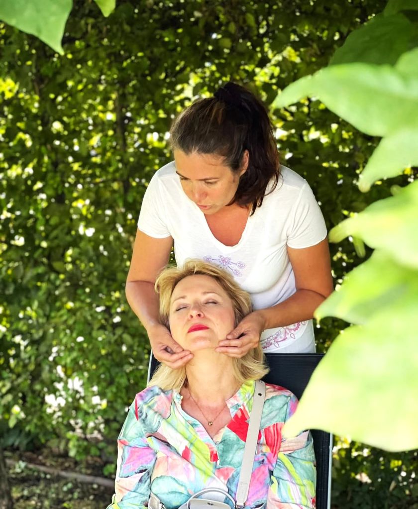
[[[227,400],[231,421],[213,439],[182,409],[177,391],[151,386],[136,394],[119,435],[116,493],[107,509],[142,509],[150,492],[167,509],[209,487],[235,498],[254,389],[254,381],[245,382]],[[281,434],[296,406],[290,391],[266,384],[246,509],[315,508],[312,436]]]

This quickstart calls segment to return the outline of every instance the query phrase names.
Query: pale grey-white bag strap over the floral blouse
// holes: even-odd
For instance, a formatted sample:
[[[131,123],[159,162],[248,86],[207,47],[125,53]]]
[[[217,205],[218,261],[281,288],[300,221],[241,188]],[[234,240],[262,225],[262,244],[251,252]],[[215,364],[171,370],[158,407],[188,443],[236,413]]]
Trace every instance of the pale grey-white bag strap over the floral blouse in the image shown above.
[[[256,380],[253,409],[249,416],[247,439],[245,440],[241,473],[238,480],[237,502],[235,504],[237,509],[243,509],[248,496],[249,482],[251,480],[251,474],[253,473],[254,457],[256,456],[258,432],[260,430],[265,394],[266,384],[261,380]]]

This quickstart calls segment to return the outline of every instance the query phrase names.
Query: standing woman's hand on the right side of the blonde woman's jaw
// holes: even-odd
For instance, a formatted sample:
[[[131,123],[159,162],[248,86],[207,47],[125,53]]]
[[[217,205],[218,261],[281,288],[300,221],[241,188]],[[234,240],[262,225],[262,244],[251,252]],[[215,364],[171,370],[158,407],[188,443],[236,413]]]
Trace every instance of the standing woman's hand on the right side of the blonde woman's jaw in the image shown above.
[[[264,329],[264,317],[260,312],[254,311],[239,322],[227,335],[226,340],[219,342],[215,351],[230,357],[243,357],[249,350],[257,347]]]

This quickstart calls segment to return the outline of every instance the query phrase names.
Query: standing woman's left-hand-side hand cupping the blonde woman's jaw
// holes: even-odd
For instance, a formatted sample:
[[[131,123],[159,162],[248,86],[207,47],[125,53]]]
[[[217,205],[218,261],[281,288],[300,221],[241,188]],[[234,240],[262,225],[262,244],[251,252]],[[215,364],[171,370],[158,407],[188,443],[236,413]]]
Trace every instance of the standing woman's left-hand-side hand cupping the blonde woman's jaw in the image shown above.
[[[148,336],[154,357],[173,370],[184,366],[193,358],[193,354],[189,350],[183,350],[173,340],[169,329],[164,327],[164,325],[157,324],[148,329]]]

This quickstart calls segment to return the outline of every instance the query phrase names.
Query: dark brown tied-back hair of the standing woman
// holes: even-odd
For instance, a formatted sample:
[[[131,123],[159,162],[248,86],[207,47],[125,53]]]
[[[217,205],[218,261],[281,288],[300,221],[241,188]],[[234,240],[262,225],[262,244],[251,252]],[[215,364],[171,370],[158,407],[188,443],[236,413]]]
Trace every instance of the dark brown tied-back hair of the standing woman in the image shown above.
[[[231,203],[251,205],[251,214],[262,205],[269,182],[269,192],[277,185],[280,163],[267,110],[254,94],[236,83],[229,82],[213,97],[186,108],[174,121],[170,140],[173,150],[185,154],[224,157],[233,172],[240,171],[248,150],[248,168]]]

